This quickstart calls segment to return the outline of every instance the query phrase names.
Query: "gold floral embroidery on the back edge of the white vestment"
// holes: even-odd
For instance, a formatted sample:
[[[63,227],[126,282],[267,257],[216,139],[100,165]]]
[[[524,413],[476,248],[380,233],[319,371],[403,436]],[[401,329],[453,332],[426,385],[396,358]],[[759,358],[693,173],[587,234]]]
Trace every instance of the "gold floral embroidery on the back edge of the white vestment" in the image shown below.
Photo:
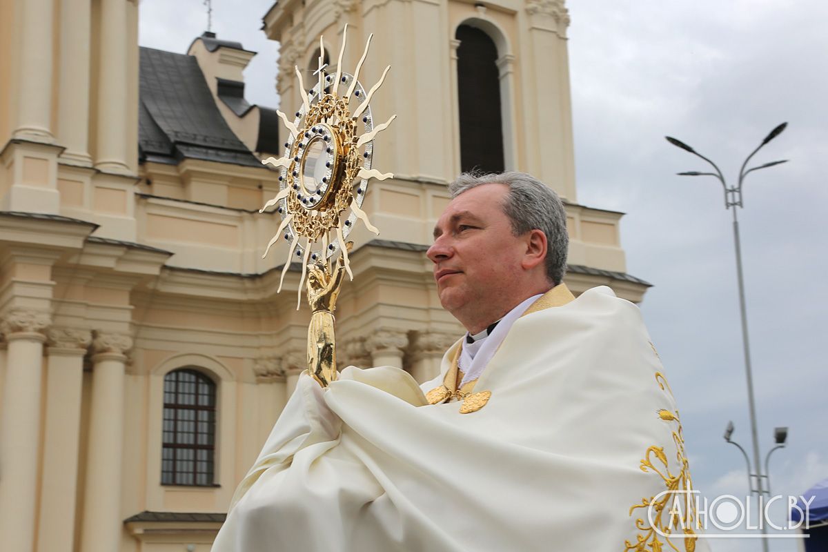
[[[650,346],[652,347],[652,343],[650,343]],[[655,348],[653,348],[653,352],[655,352]],[[656,372],[655,377],[662,391],[667,391],[672,397],[670,384],[667,383],[667,379],[662,372]],[[681,530],[681,533],[684,534],[684,550],[686,552],[693,552],[696,550],[696,540],[699,538],[696,536],[694,527],[698,529],[700,526],[696,513],[696,501],[693,496],[690,463],[687,461],[684,451],[684,436],[681,432],[681,420],[678,416],[678,410],[671,411],[662,408],[656,410],[656,415],[665,422],[675,422],[676,424],[676,429],[672,431],[672,439],[673,444],[676,445],[676,461],[679,472],[676,475],[670,472],[669,459],[667,458],[667,454],[664,454],[664,447],[652,445],[647,448],[639,468],[645,473],[652,471],[660,475],[664,480],[664,485],[667,487],[667,492],[661,492],[649,499],[642,498],[640,504],[633,504],[630,507],[630,516],[633,515],[633,510],[637,508],[643,508],[645,511],[651,509],[652,513],[648,512],[647,519],[652,520],[652,524],[648,526],[642,518],[639,517],[636,519],[635,526],[640,532],[636,536],[634,543],[631,543],[629,540],[624,540],[624,551],[634,550],[635,552],[644,552],[646,550],[652,550],[652,552],[661,552],[664,543],[659,537],[672,535],[673,530]],[[661,469],[656,467],[654,463],[656,459],[661,464]],[[656,499],[656,497],[659,498]],[[681,500],[679,497],[683,497],[683,503],[677,502]],[[669,509],[667,509],[668,502],[671,505]],[[667,521],[662,519],[665,513],[669,514]],[[665,537],[664,542],[672,550],[681,552],[681,550],[676,548],[676,545],[673,545],[669,538]]]

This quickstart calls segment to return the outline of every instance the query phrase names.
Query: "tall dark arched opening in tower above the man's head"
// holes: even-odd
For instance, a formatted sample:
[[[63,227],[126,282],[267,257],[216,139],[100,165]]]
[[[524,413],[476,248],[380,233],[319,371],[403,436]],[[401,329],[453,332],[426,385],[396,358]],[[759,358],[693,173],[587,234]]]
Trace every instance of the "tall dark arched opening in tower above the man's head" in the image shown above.
[[[503,172],[498,48],[484,31],[460,25],[457,98],[460,112],[460,170]]]

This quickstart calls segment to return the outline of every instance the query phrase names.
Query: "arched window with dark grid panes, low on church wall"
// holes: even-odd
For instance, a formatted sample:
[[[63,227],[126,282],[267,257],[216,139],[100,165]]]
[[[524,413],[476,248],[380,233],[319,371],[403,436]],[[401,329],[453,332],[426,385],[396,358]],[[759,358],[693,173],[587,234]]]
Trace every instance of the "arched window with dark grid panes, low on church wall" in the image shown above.
[[[215,383],[191,368],[164,377],[162,485],[212,485]]]

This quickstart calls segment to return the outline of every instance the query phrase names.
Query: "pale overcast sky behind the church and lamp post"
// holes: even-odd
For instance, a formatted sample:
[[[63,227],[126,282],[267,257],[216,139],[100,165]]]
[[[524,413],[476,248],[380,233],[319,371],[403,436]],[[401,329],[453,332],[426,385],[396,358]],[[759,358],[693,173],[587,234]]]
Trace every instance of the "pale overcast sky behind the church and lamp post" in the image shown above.
[[[247,98],[276,107],[278,45],[260,28],[270,0],[215,0],[213,28],[257,55]],[[185,52],[206,27],[200,0],[142,0],[142,46]],[[739,209],[753,380],[763,455],[773,428],[774,494],[828,478],[826,341],[828,3],[820,0],[581,0],[569,2],[570,74],[579,202],[627,213],[628,272],[654,284],[641,305],[684,423],[696,487],[744,496],[750,450],[732,212],[708,170],[671,146],[680,138],[735,182],[744,157],[779,122],[787,130],[757,164]],[[777,522],[784,508],[773,511]],[[758,550],[753,540],[712,548]],[[770,550],[796,550],[773,540]]]

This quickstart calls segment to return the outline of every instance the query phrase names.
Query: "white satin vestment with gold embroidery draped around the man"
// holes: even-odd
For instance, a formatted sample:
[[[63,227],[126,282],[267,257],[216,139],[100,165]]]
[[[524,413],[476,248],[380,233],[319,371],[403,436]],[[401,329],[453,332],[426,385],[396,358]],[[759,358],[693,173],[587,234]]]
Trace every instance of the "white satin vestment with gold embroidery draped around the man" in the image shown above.
[[[633,506],[689,487],[676,405],[638,308],[606,287],[570,299],[556,286],[517,319],[461,387],[491,393],[466,414],[397,368],[303,374],[213,552],[659,550],[673,502],[652,522]]]

